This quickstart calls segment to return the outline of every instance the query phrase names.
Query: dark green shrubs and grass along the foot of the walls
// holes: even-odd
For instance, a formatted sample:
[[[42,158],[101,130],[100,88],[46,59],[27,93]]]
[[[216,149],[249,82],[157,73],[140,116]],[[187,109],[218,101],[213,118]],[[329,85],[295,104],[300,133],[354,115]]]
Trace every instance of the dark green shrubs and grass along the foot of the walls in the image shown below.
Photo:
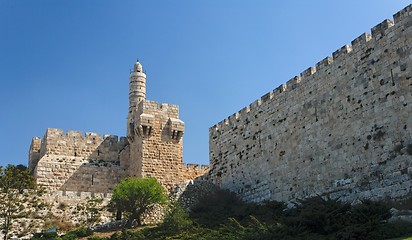
[[[314,197],[298,201],[295,208],[287,209],[280,202],[244,203],[235,195],[218,190],[201,199],[189,213],[179,204],[171,204],[163,222],[155,227],[124,229],[110,237],[92,235],[88,239],[362,240],[412,235],[412,223],[388,222],[389,208],[387,202],[363,201],[350,205]],[[68,234],[56,239],[70,239]]]

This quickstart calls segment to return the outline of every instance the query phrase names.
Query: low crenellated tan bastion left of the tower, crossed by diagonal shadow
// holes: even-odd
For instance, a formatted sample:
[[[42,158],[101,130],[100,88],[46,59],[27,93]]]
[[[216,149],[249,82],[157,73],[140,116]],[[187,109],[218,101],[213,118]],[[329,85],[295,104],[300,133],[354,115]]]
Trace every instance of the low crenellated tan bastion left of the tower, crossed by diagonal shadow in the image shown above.
[[[29,167],[48,190],[108,193],[127,174],[127,144],[113,135],[49,128],[33,139]]]

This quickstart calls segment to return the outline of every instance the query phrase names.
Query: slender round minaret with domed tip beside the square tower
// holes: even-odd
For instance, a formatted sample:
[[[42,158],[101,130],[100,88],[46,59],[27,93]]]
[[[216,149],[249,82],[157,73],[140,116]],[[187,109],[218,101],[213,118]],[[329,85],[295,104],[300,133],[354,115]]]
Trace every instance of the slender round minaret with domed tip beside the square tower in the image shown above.
[[[129,114],[127,117],[127,136],[133,136],[133,113],[137,110],[139,103],[146,99],[146,73],[143,72],[143,67],[139,60],[137,60],[134,64],[133,71],[130,73],[129,79]]]

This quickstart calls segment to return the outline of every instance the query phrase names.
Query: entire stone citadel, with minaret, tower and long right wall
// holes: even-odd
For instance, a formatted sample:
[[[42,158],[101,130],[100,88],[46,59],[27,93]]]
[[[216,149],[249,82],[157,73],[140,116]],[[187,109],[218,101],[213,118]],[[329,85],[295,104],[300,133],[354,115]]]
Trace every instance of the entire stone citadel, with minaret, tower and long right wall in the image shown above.
[[[48,129],[29,167],[51,190],[108,193],[127,176],[167,189],[204,176],[247,201],[403,198],[412,187],[412,5],[211,127],[208,166],[182,162],[178,107],[130,74],[127,137]]]

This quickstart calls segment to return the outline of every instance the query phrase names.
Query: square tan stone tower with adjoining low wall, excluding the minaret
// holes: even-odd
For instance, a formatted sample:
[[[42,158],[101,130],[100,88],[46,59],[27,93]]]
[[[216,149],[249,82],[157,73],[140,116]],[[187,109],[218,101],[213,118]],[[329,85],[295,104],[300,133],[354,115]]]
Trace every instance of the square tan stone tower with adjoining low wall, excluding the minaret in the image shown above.
[[[182,180],[207,172],[207,166],[183,163],[184,125],[178,114],[176,105],[149,100],[139,103],[133,120],[137,130],[130,145],[131,176],[155,177],[171,190]]]

